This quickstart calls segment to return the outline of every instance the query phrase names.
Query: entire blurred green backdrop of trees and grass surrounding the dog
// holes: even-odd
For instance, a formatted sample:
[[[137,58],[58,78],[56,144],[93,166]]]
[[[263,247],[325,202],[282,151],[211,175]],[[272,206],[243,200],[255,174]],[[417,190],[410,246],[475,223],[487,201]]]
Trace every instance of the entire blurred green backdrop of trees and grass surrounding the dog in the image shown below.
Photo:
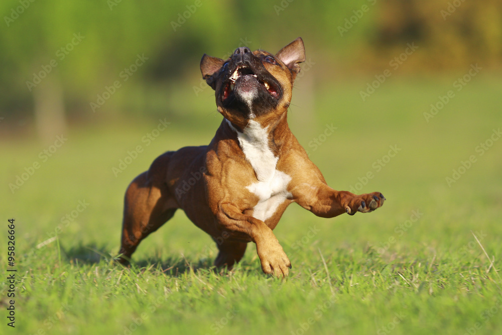
[[[68,301],[54,333],[124,333],[165,295],[138,333],[205,333],[232,302],[249,313],[221,333],[253,322],[299,334],[334,291],[312,333],[374,333],[395,312],[411,317],[393,333],[464,333],[500,296],[500,1],[18,0],[0,13],[0,208],[17,223],[20,333],[50,332],[44,320]],[[290,128],[330,186],[381,191],[385,205],[334,219],[290,206],[274,231],[293,263],[284,284],[263,276],[252,245],[235,274],[206,273],[213,243],[181,211],[135,253],[141,270],[106,263],[129,182],[165,151],[209,143],[221,122],[201,56],[275,53],[299,36]],[[476,333],[500,326],[491,317]]]

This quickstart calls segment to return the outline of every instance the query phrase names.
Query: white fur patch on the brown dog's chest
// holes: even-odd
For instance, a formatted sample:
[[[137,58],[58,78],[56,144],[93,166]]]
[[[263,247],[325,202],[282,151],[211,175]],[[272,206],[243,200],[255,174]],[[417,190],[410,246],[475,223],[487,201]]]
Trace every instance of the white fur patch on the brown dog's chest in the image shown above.
[[[291,177],[276,169],[279,157],[275,157],[269,148],[268,127],[262,128],[258,122],[250,121],[241,133],[230,122],[228,124],[237,132],[240,147],[258,179],[246,186],[249,192],[259,198],[253,208],[253,216],[265,221],[276,212],[279,205],[292,196],[287,188]]]

